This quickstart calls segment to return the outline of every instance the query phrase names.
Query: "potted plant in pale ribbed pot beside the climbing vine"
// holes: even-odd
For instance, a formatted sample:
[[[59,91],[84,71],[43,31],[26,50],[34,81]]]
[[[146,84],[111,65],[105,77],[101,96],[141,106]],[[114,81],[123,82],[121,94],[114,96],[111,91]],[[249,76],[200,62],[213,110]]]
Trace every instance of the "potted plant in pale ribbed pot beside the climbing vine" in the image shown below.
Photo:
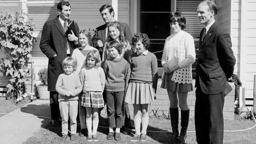
[[[39,79],[41,81],[41,85],[37,85],[37,92],[40,100],[49,100],[50,92],[47,90],[47,68],[42,68],[38,72]]]

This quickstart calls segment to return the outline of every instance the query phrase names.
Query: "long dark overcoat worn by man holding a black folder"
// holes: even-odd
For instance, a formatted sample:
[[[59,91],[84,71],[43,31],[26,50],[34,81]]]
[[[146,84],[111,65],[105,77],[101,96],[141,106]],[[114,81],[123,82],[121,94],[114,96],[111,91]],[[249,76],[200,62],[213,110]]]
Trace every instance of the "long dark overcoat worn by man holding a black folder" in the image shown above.
[[[67,57],[67,35],[64,32],[64,28],[59,21],[59,16],[53,20],[45,22],[42,31],[42,37],[40,41],[41,51],[48,57],[48,91],[56,91],[55,86],[57,79],[62,70],[62,61]],[[71,20],[68,20],[69,23]],[[76,33],[79,33],[78,25],[75,23]],[[73,50],[79,45],[75,45],[74,42],[69,42],[70,55]],[[55,54],[57,56],[53,57]]]

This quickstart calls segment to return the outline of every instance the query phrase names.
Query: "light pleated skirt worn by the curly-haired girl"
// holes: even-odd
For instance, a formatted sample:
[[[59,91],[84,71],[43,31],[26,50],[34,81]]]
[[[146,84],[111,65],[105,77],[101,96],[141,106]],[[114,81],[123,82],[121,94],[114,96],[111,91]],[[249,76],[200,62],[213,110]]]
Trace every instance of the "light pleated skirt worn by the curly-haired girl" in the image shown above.
[[[152,83],[130,82],[124,101],[132,104],[152,103],[154,102],[155,95]]]

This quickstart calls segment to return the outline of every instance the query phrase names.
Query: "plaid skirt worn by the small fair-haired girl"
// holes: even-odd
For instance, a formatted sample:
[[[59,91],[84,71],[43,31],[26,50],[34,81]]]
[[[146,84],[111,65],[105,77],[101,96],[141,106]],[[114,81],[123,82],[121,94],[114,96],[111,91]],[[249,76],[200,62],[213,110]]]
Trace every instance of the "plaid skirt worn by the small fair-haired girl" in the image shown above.
[[[83,92],[81,105],[83,107],[94,107],[94,108],[104,107],[102,92],[91,92],[91,91]]]

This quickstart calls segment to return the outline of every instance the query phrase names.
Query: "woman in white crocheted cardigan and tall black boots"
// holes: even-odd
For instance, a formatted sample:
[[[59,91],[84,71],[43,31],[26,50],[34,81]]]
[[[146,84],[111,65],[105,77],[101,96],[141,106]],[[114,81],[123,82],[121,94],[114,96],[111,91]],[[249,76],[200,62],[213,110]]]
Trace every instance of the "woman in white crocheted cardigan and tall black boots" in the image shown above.
[[[173,34],[165,40],[161,63],[164,68],[161,88],[167,89],[170,100],[171,126],[170,143],[185,144],[189,121],[187,93],[193,90],[191,65],[195,62],[193,37],[184,31],[186,18],[180,12],[169,15]],[[181,130],[178,131],[178,104],[181,109]]]

